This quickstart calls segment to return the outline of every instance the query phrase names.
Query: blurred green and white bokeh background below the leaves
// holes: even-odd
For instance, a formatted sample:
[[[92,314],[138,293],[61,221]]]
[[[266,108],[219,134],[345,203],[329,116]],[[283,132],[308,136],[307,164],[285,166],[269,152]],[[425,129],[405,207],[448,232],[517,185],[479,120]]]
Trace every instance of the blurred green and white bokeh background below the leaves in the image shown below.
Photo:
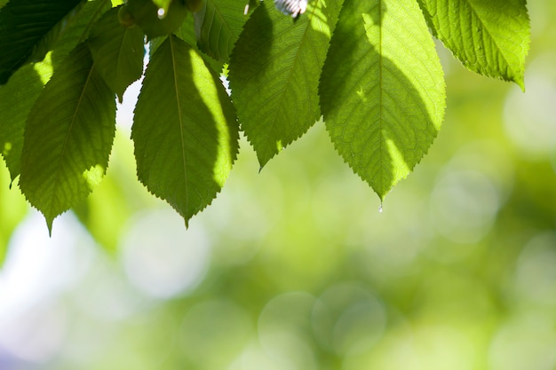
[[[322,122],[260,173],[242,140],[187,231],[125,108],[50,239],[2,167],[0,369],[556,369],[556,3],[529,10],[525,94],[439,45],[446,120],[382,212]]]

